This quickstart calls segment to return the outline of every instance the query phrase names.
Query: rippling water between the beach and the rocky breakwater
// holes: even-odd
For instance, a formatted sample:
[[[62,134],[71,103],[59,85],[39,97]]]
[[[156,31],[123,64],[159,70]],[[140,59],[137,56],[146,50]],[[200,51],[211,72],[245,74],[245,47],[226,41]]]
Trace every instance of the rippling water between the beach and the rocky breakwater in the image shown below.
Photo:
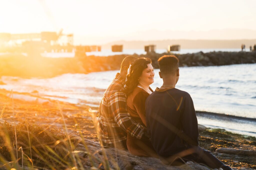
[[[155,70],[152,89],[163,83]],[[99,106],[116,71],[63,74],[50,79],[2,76],[0,88],[19,92],[37,90],[41,96],[71,103]],[[176,88],[187,91],[194,101],[198,123],[231,132],[256,136],[256,64],[181,67]],[[227,117],[225,115],[228,115]]]

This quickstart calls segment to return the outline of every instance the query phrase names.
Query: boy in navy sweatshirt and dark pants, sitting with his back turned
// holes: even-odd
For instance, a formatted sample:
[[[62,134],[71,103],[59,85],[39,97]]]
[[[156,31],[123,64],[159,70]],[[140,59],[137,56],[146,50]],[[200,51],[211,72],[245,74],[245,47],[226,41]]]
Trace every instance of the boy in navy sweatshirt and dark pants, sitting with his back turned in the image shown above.
[[[163,85],[148,96],[145,106],[152,145],[167,164],[180,165],[183,161],[194,161],[213,169],[231,169],[210,151],[199,147],[193,100],[187,92],[175,88],[179,80],[178,62],[175,56],[158,59]]]

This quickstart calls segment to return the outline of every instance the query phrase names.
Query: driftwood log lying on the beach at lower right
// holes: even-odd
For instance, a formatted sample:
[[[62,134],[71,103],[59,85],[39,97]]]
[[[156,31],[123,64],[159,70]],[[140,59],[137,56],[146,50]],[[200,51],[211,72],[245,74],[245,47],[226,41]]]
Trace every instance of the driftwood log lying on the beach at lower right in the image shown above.
[[[252,155],[256,156],[256,151],[254,150],[248,150],[248,149],[234,149],[234,148],[218,148],[216,149],[216,152],[219,153],[229,153],[234,155]]]

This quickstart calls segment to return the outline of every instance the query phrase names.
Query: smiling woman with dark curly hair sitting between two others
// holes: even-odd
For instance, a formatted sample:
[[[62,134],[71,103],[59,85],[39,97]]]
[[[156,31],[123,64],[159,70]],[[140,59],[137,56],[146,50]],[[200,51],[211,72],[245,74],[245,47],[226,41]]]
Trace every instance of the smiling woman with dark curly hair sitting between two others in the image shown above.
[[[129,73],[130,72],[130,73]],[[125,93],[127,95],[127,109],[134,121],[143,123],[146,126],[145,102],[153,92],[150,85],[154,83],[154,69],[151,59],[139,58],[127,73]],[[127,148],[137,156],[158,157],[150,141],[136,139],[127,135]]]

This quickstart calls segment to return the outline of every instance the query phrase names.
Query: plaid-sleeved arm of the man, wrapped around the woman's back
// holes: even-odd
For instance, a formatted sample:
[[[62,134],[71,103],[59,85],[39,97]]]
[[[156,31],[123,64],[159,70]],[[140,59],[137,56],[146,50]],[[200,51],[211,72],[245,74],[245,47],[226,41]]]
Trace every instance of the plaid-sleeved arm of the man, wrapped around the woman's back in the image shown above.
[[[109,98],[109,108],[112,112],[115,122],[127,134],[137,139],[149,139],[145,126],[132,120],[127,112],[126,95],[121,91],[116,91]]]

